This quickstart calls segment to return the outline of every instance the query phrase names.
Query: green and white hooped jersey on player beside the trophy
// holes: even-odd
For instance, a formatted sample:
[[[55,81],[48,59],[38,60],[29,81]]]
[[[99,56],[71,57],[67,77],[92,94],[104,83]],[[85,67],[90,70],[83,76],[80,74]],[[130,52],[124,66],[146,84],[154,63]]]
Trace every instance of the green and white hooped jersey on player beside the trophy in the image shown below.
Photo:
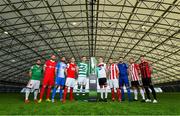
[[[78,70],[78,76],[79,77],[87,77],[88,74],[88,64],[84,62],[80,62],[78,64],[79,70]]]

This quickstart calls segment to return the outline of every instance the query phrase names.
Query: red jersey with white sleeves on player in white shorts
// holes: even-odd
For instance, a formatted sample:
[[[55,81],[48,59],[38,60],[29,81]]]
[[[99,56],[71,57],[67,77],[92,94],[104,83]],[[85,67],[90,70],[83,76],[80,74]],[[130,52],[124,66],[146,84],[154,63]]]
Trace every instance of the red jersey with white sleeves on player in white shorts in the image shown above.
[[[76,64],[75,63],[67,64],[67,77],[68,78],[76,77]]]

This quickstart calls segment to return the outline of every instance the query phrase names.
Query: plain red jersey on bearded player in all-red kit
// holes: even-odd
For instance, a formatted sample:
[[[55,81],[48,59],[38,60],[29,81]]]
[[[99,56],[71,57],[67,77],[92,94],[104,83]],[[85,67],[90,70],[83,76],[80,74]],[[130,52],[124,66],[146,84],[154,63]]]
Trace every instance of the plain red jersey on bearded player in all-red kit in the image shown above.
[[[56,62],[52,60],[47,60],[45,63],[45,71],[44,71],[44,78],[54,78],[55,76],[55,67]]]

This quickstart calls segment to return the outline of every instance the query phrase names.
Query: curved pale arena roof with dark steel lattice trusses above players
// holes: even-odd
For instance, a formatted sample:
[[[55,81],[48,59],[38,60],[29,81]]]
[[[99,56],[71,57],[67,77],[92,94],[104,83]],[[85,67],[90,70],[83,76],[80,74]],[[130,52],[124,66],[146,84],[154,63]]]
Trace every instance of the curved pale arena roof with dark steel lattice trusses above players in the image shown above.
[[[180,80],[179,0],[1,0],[0,80],[27,81],[52,53],[152,62],[154,82]]]

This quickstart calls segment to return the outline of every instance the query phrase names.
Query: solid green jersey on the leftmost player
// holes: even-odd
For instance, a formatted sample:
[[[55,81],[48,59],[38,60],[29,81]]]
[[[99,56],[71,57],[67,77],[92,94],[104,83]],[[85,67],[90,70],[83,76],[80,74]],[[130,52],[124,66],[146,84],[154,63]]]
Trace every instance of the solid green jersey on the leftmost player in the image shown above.
[[[32,80],[40,80],[42,78],[42,67],[38,66],[38,65],[34,65],[31,67],[30,69],[32,75],[31,75],[31,79]]]

